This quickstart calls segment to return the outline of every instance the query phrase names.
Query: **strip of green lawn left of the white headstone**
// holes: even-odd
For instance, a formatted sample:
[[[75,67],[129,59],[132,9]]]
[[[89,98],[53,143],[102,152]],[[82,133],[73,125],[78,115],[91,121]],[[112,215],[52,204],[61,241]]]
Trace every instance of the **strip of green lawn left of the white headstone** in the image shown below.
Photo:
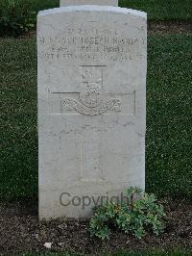
[[[0,197],[37,197],[36,43],[0,40]]]

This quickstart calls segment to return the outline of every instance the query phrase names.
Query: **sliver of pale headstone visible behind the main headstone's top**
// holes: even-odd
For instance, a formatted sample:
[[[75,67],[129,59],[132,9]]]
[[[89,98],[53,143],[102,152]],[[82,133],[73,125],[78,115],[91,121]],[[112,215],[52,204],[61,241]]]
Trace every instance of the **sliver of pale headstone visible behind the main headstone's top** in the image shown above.
[[[60,6],[118,6],[118,0],[60,0]]]

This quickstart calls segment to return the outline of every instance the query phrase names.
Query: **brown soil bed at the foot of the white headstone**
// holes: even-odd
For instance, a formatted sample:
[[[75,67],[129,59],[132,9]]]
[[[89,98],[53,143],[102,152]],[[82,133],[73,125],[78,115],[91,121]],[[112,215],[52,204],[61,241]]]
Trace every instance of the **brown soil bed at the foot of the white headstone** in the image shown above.
[[[91,238],[85,219],[38,221],[37,209],[21,205],[0,207],[0,254],[15,255],[24,251],[73,250],[84,254],[115,249],[172,249],[192,247],[192,205],[184,201],[163,200],[166,231],[160,236],[149,234],[143,240],[113,232],[109,241]],[[52,243],[47,249],[44,243]]]

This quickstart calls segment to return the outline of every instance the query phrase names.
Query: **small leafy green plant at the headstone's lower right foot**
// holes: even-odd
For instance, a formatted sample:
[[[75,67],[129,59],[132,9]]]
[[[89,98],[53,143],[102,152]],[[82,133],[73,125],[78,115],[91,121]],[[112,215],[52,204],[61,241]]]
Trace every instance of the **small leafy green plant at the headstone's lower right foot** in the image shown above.
[[[112,228],[132,233],[138,239],[142,239],[150,230],[156,235],[163,232],[165,213],[162,205],[157,204],[154,194],[131,187],[127,189],[126,196],[127,203],[106,201],[95,210],[89,223],[92,236],[108,239]]]

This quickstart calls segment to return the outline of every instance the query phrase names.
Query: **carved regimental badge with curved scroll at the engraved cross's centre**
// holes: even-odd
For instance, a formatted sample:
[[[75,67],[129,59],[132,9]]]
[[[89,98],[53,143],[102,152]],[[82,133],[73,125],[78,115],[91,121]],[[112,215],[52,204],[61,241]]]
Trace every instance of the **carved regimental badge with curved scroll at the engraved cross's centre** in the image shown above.
[[[104,99],[103,67],[101,65],[81,66],[80,101],[64,98],[63,106],[70,107],[83,115],[101,115],[109,110],[120,111],[122,104],[120,99]]]

